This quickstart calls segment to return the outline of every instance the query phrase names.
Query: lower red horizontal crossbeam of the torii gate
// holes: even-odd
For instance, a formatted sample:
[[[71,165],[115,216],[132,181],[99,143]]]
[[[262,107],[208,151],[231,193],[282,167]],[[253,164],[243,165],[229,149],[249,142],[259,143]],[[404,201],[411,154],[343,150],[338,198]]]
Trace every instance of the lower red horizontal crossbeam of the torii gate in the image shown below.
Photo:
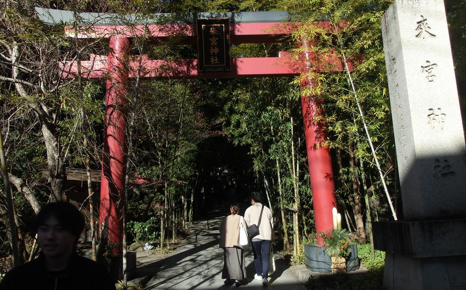
[[[129,77],[135,78],[139,67],[139,59],[132,56],[129,63]],[[344,69],[341,58],[328,53],[325,56],[313,57],[314,71],[341,71]],[[88,61],[81,61],[83,78],[101,79],[107,71],[107,57],[91,55]],[[143,78],[248,78],[248,77],[286,77],[296,76],[305,71],[306,61],[295,59],[291,53],[281,52],[280,57],[234,58],[230,71],[201,72],[197,70],[197,60],[149,60],[142,56],[141,77]],[[74,78],[77,74],[77,62],[61,63],[62,78]],[[352,64],[349,63],[350,69]]]

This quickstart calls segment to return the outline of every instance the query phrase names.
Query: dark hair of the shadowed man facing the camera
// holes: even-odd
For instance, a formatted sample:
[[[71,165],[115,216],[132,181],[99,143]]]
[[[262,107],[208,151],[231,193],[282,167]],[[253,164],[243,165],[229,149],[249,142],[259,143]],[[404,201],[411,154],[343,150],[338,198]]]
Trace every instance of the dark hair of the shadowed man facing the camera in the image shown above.
[[[76,206],[67,202],[53,202],[46,204],[37,213],[34,221],[34,231],[44,225],[44,223],[51,217],[54,216],[61,226],[76,236],[76,241],[84,230],[84,217]]]

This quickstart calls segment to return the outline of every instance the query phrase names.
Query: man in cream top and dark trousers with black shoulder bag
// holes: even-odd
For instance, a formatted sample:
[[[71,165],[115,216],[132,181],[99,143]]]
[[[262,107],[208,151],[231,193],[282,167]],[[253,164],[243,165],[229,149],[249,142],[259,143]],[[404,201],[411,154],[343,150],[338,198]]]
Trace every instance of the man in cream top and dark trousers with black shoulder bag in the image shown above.
[[[259,225],[259,235],[250,237],[252,238],[252,252],[256,267],[254,278],[262,280],[262,284],[266,285],[268,283],[270,244],[272,243],[272,212],[262,204],[261,195],[257,191],[251,192],[250,202],[251,206],[244,212],[244,220],[248,226]],[[259,223],[260,217],[261,222]]]

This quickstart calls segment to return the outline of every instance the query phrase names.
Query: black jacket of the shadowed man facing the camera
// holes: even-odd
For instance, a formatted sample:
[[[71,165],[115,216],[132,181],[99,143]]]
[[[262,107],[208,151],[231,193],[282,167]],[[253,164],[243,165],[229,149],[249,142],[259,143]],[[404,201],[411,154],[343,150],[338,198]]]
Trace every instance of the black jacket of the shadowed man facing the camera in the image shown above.
[[[49,272],[42,255],[9,271],[0,290],[115,290],[115,284],[103,265],[73,254],[67,269]]]

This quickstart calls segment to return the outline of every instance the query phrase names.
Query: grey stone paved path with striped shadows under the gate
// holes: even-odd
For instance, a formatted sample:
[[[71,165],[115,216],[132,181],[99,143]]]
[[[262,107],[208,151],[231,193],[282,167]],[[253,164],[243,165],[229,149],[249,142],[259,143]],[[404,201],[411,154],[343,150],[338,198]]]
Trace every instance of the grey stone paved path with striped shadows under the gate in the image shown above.
[[[138,257],[138,277],[152,277],[144,289],[157,290],[214,290],[236,289],[225,285],[222,279],[223,250],[219,248],[218,227],[222,218],[199,222],[190,229],[190,235],[170,255],[163,258]],[[274,255],[276,271],[269,277],[269,285],[254,280],[252,250],[245,250],[247,279],[238,289],[306,290],[306,287],[289,270],[288,262]],[[141,279],[141,278],[139,278]],[[136,279],[137,281],[138,279]],[[130,281],[132,282],[132,281]]]

